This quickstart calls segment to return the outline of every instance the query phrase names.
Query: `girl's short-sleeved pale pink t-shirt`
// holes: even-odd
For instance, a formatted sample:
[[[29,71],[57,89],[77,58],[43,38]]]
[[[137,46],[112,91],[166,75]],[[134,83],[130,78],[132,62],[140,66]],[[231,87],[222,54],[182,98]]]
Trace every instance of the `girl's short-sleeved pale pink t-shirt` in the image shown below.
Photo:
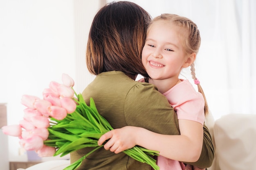
[[[204,97],[196,92],[189,80],[180,79],[182,82],[173,86],[163,95],[166,96],[171,106],[177,113],[178,119],[193,120],[204,124]],[[144,81],[140,79],[139,81]],[[159,155],[157,165],[160,170],[184,170],[185,165],[180,161],[168,159]]]

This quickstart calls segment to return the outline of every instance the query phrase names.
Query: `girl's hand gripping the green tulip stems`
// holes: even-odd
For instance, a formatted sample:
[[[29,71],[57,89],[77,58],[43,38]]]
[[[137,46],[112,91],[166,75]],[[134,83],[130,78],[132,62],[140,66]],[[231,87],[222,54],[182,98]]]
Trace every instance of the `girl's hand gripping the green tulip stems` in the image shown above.
[[[120,129],[114,129],[102,135],[98,140],[98,145],[102,145],[109,139],[104,145],[104,148],[111,152],[120,153],[136,145],[136,131],[138,129],[139,127],[134,126],[125,126]]]

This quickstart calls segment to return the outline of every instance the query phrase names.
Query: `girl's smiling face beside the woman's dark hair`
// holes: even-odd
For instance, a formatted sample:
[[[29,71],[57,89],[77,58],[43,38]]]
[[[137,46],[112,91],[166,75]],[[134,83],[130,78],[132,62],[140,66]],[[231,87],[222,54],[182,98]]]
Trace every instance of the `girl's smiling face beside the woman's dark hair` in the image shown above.
[[[148,31],[142,51],[142,63],[154,80],[177,80],[186,66],[186,56],[182,45],[180,27],[157,21]]]

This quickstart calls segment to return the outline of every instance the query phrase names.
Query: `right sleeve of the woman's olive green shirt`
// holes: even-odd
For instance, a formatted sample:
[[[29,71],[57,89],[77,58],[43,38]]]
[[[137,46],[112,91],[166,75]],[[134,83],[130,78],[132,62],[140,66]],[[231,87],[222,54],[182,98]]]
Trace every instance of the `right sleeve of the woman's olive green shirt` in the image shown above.
[[[124,115],[128,126],[143,127],[166,135],[180,135],[175,111],[154,85],[138,83],[130,89],[124,103]],[[202,153],[198,161],[189,164],[198,168],[207,168],[211,166],[213,158],[214,148],[211,135],[204,124]]]

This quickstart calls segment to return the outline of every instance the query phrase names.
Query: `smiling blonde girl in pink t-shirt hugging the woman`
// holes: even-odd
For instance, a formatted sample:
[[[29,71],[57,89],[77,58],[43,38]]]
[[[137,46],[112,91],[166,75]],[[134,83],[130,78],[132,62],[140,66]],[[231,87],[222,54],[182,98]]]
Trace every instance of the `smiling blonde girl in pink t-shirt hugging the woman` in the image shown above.
[[[135,145],[158,150],[157,164],[161,170],[184,170],[182,162],[198,160],[202,150],[204,116],[208,113],[194,68],[200,40],[199,30],[191,20],[162,14],[155,17],[148,27],[142,51],[142,63],[149,75],[145,80],[156,85],[159,92],[168,98],[177,113],[180,135],[161,135],[126,126],[106,133],[99,139],[99,144],[111,137],[104,148],[115,153]],[[188,80],[179,79],[182,68],[189,66],[199,92]]]

